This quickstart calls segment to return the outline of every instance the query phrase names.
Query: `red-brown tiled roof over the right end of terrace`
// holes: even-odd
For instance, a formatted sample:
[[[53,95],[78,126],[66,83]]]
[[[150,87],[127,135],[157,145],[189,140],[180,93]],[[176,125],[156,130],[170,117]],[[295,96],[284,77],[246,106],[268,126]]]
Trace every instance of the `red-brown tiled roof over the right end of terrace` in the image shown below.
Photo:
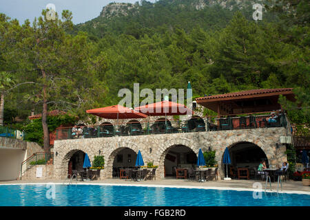
[[[216,99],[216,98],[234,98],[238,96],[251,96],[251,95],[258,95],[258,94],[272,94],[276,92],[283,92],[283,91],[292,91],[293,88],[280,88],[280,89],[251,89],[247,91],[237,91],[229,94],[219,94],[215,96],[205,96],[196,98],[196,100],[209,100],[209,99]]]

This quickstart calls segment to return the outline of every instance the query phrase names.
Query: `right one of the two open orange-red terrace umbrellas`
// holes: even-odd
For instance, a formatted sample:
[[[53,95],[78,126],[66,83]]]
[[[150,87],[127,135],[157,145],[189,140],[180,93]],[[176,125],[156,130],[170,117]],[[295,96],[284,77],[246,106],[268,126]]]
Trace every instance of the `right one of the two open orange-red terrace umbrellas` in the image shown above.
[[[193,114],[193,111],[188,109],[184,104],[178,104],[176,102],[170,102],[167,100],[136,107],[134,110],[152,116]]]

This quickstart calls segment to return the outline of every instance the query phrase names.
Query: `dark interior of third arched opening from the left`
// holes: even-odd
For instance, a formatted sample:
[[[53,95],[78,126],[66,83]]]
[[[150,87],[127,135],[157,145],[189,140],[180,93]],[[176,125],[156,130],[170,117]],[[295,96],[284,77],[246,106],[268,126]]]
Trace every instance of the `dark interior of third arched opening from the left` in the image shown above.
[[[174,145],[165,151],[164,177],[176,178],[176,170],[195,168],[197,155],[185,145]]]

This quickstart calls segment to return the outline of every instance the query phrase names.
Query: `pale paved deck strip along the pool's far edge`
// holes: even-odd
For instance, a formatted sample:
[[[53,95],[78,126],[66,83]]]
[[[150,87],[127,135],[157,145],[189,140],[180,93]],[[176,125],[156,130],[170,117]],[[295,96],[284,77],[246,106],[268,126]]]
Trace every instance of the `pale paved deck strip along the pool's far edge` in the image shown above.
[[[38,180],[14,180],[14,181],[0,181],[1,184],[39,184],[39,183],[55,183],[68,184],[70,179],[38,179]],[[231,190],[258,190],[256,183],[261,184],[262,190],[265,190],[265,181],[260,180],[243,180],[231,179],[219,181],[189,181],[187,179],[156,179],[147,181],[130,181],[125,179],[105,179],[92,181],[73,181],[73,184],[102,184],[102,185],[121,185],[121,186],[154,186],[154,187],[176,187],[176,188],[211,188],[211,189],[231,189]],[[258,185],[259,185],[258,184]],[[277,192],[277,182],[271,183],[272,192]],[[267,192],[270,192],[269,184],[267,185]],[[310,195],[310,187],[303,186],[302,181],[282,181],[282,191],[287,193],[302,193]]]

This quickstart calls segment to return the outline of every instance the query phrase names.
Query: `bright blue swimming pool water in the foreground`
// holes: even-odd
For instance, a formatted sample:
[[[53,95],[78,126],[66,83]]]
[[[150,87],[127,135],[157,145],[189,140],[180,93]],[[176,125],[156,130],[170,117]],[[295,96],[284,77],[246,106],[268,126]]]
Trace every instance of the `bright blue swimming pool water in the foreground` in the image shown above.
[[[310,206],[310,195],[100,185],[3,185],[0,206]],[[54,198],[53,198],[54,195]],[[257,192],[256,192],[257,195]]]

